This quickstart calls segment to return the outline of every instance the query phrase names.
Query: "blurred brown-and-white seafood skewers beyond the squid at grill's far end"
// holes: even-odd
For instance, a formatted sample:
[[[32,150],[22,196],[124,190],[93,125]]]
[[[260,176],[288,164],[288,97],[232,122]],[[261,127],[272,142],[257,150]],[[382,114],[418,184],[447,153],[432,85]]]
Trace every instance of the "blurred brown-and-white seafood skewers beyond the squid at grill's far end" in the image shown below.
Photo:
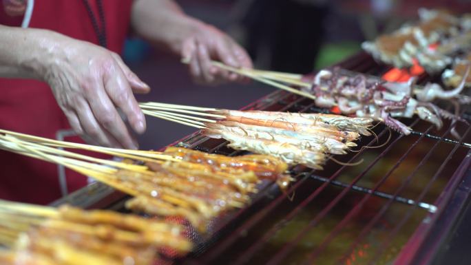
[[[469,16],[421,8],[419,19],[415,25],[404,25],[375,41],[366,41],[363,49],[375,59],[398,68],[411,67],[417,59],[427,72],[435,73],[452,62],[451,56],[471,48]]]

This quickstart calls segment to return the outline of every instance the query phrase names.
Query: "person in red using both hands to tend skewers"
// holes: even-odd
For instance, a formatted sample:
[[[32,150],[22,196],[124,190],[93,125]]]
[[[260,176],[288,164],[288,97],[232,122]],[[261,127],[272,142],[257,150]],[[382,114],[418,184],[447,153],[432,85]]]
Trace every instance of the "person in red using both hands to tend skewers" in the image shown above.
[[[210,60],[251,67],[227,34],[187,16],[171,0],[1,1],[2,129],[56,138],[72,127],[94,145],[136,149],[132,131],[142,134],[146,125],[133,93],[150,88],[118,55],[130,32],[178,60],[189,59],[198,83],[240,79]],[[0,160],[0,198],[45,204],[61,196],[55,165],[5,151]],[[68,190],[86,182],[67,172]]]

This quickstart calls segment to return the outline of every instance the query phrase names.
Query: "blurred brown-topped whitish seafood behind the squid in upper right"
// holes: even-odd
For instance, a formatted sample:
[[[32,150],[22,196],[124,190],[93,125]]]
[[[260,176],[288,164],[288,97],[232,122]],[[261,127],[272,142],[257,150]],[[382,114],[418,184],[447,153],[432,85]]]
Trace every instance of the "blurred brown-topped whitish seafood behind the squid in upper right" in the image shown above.
[[[410,67],[417,54],[428,50],[430,44],[443,39],[443,36],[459,34],[461,20],[448,12],[422,8],[419,10],[419,17],[421,21],[417,25],[407,25],[391,34],[381,35],[373,42],[362,43],[362,48],[384,63],[399,68]],[[422,57],[423,61],[428,59],[424,54]],[[450,63],[450,59],[441,59],[435,61],[435,64],[443,69]]]

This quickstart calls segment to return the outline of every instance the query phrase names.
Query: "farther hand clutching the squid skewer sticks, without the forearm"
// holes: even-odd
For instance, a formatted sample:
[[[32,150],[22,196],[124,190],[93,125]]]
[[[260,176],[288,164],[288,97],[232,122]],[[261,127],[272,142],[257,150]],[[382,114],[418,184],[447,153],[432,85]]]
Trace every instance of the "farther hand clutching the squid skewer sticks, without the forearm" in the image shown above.
[[[249,54],[230,36],[211,25],[192,21],[192,28],[182,41],[181,56],[188,60],[189,72],[196,83],[217,85],[247,78],[211,64],[220,61],[231,67],[252,68]]]

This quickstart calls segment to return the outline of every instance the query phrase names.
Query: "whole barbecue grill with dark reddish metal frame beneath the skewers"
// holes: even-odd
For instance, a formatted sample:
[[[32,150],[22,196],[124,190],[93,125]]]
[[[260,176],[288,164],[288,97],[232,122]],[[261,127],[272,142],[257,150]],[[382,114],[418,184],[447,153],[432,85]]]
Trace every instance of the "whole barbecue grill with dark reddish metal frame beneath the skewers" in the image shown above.
[[[382,76],[389,70],[363,52],[337,64]],[[419,84],[434,80],[422,74]],[[444,105],[443,107],[450,107]],[[328,112],[313,100],[276,91],[243,109]],[[467,109],[461,116],[469,119]],[[470,193],[470,128],[457,126],[462,140],[445,123],[437,131],[419,118],[401,119],[410,136],[377,125],[345,156],[329,160],[322,171],[291,168],[296,179],[282,192],[263,182],[244,209],[208,224],[208,235],[192,233],[198,246],[176,264],[432,264],[447,256],[450,240]],[[387,142],[385,145],[383,145]],[[198,132],[173,145],[237,156],[244,151]],[[54,205],[123,210],[129,197],[94,183]]]

